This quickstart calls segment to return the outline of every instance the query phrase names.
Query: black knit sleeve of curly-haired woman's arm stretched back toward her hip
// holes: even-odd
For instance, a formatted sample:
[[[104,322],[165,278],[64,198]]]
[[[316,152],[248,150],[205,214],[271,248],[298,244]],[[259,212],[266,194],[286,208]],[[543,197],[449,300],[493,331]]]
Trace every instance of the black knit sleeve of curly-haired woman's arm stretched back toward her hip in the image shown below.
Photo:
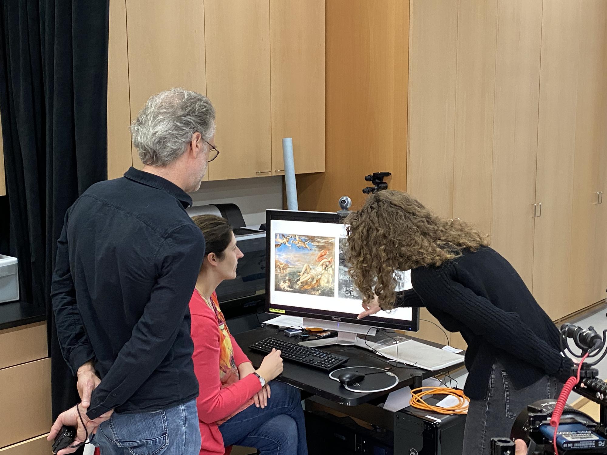
[[[496,348],[536,365],[547,374],[569,377],[571,360],[540,339],[515,312],[497,308],[489,300],[453,278],[454,266],[422,269],[412,275],[413,287],[429,309],[446,312]]]

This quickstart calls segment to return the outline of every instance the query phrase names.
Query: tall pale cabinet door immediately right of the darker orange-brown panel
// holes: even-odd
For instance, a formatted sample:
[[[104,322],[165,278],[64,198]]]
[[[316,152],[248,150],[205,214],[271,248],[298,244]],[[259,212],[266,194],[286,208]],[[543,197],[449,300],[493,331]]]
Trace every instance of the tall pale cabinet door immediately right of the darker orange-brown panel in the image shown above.
[[[453,217],[458,0],[411,0],[407,191]]]

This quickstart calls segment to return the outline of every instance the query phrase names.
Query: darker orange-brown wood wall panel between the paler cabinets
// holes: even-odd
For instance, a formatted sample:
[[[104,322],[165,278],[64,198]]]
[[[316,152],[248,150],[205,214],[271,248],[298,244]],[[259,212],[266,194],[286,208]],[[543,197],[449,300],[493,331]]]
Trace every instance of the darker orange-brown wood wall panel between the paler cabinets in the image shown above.
[[[326,9],[325,172],[297,177],[299,208],[336,211],[364,200],[365,175],[407,183],[407,2],[331,0]]]

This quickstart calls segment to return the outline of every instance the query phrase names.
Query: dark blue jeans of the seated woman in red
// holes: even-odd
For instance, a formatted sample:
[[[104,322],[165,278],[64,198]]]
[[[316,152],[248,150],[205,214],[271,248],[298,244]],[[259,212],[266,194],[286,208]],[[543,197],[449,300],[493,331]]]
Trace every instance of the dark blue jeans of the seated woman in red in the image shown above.
[[[223,443],[254,447],[261,455],[308,455],[299,390],[270,382],[268,406],[251,405],[219,426]]]

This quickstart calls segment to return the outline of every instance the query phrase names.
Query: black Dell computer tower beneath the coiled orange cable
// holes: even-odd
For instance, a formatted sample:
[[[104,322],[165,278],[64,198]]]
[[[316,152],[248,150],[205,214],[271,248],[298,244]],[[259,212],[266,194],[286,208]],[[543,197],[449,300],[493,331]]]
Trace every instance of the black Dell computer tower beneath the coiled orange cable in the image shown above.
[[[427,400],[433,401],[438,399]],[[462,455],[464,425],[466,414],[433,414],[412,406],[401,409],[394,414],[394,453]]]

